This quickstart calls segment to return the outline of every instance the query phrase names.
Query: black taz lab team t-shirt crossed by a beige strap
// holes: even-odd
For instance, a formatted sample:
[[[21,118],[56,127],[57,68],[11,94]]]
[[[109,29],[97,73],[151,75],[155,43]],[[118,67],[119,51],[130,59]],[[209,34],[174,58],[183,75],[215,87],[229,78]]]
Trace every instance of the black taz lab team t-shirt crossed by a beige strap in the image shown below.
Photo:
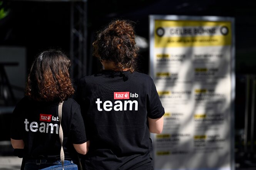
[[[16,105],[11,138],[24,141],[26,159],[60,159],[58,106],[58,102],[39,102],[28,97]],[[77,154],[73,144],[86,142],[80,106],[74,99],[64,101],[61,125],[65,160],[71,160]]]

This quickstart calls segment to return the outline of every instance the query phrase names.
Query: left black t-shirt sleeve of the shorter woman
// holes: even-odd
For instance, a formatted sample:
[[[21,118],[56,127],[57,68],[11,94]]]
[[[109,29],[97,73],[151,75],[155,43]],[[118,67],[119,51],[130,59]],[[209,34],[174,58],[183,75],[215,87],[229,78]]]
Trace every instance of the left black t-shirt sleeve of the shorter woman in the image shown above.
[[[12,112],[10,137],[15,140],[23,139],[23,126],[24,122],[22,121],[22,104],[19,102]]]

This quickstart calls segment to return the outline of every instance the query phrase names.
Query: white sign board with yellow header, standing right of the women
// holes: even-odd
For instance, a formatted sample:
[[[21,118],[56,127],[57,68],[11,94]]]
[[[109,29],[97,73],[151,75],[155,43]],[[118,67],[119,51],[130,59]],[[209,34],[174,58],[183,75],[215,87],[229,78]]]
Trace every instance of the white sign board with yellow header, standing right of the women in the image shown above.
[[[150,74],[165,109],[155,170],[233,170],[234,19],[151,15]]]

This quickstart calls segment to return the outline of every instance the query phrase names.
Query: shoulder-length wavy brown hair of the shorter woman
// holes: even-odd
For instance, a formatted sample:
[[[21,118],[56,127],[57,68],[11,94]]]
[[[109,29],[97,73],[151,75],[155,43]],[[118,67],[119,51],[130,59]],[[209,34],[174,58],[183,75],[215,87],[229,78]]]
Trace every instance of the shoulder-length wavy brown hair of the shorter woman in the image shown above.
[[[32,63],[25,95],[36,101],[64,101],[74,94],[70,60],[60,50],[43,51]]]

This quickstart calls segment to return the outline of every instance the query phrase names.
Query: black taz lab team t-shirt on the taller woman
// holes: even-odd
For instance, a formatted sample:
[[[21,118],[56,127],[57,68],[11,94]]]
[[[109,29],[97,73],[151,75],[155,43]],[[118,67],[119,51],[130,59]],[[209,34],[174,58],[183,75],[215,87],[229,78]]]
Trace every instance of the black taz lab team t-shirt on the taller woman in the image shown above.
[[[127,170],[151,162],[147,117],[162,117],[164,108],[150,76],[103,70],[80,79],[75,99],[90,140],[85,168]]]

